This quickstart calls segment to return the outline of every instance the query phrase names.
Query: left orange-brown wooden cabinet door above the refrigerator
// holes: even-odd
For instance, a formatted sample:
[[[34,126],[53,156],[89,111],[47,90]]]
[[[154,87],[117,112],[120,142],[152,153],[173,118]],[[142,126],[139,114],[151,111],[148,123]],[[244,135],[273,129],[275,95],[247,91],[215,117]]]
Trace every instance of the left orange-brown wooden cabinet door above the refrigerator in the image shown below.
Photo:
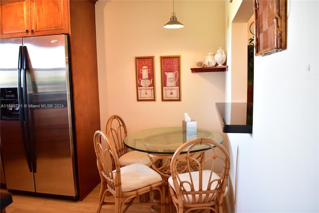
[[[29,0],[0,0],[0,38],[31,35]]]

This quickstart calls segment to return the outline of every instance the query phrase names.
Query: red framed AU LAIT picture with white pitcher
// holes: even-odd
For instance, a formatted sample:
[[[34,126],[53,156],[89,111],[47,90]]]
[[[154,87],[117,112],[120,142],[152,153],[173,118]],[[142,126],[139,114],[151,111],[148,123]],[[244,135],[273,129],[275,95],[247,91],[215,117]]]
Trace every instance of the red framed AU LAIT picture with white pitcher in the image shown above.
[[[160,56],[161,100],[181,101],[180,56]]]

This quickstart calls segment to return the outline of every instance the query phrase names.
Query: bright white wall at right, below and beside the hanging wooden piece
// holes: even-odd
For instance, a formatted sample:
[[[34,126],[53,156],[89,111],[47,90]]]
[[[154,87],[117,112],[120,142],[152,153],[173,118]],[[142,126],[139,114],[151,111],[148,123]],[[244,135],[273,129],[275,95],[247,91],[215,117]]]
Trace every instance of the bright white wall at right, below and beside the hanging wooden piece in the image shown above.
[[[238,213],[319,212],[318,14],[289,0],[287,50],[255,57],[253,133],[228,134]]]

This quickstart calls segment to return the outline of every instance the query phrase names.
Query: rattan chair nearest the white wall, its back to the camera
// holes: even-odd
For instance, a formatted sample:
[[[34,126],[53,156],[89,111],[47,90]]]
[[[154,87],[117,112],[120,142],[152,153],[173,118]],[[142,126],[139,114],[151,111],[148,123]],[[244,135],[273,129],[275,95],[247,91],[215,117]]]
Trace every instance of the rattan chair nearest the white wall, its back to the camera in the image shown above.
[[[196,160],[191,153],[198,145],[208,146],[212,150],[212,154],[203,162]],[[181,154],[185,151],[186,154]],[[187,167],[179,171],[179,162],[185,161]],[[214,140],[197,138],[181,145],[171,159],[171,177],[168,178],[169,193],[177,213],[195,210],[222,213],[223,197],[227,193],[229,162],[227,150]],[[218,175],[214,170],[219,166],[222,171]]]

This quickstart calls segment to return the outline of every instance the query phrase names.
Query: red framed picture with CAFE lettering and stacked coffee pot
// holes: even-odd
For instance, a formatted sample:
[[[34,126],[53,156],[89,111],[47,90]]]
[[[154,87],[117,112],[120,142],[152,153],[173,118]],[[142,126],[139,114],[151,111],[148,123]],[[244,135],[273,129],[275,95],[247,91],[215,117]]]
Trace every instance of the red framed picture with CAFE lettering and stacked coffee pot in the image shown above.
[[[154,56],[135,57],[138,101],[156,101]]]

